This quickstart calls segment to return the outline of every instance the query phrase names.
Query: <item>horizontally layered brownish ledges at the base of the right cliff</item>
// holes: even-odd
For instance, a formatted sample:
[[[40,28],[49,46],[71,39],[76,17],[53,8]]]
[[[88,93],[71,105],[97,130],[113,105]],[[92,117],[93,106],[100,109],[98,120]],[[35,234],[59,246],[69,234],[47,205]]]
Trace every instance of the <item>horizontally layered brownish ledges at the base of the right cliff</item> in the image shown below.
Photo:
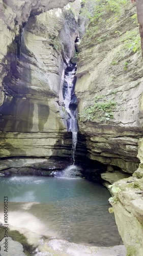
[[[91,135],[86,143],[90,159],[104,164],[118,166],[129,174],[135,172],[139,165],[137,152],[138,138],[141,132],[134,134],[133,132],[120,128],[119,130],[117,126],[96,126],[95,123],[91,122],[89,126],[86,123],[79,123],[80,125],[82,125],[81,131],[84,134],[86,131],[88,135]]]

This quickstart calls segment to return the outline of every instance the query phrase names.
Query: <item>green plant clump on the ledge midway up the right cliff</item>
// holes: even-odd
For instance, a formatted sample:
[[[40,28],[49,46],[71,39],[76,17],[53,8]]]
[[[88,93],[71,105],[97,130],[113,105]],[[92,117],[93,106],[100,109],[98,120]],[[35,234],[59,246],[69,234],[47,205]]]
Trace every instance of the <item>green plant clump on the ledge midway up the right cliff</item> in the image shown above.
[[[106,100],[104,95],[97,96],[93,104],[80,114],[79,121],[94,121],[96,119],[101,122],[109,122],[113,118],[115,106],[116,102]]]

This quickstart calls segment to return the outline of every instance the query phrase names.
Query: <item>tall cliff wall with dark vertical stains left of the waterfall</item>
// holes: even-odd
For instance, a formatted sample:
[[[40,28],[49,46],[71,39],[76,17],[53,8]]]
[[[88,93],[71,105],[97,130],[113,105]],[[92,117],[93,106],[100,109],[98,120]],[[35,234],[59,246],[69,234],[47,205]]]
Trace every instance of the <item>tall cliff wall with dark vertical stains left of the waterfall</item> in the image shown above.
[[[30,8],[24,3],[16,16],[20,24],[28,18],[25,13]],[[56,7],[59,2],[53,3],[54,6],[50,2],[42,10]],[[59,6],[66,3],[60,1]],[[16,8],[14,3],[12,7]],[[5,5],[3,8],[7,9]],[[42,11],[35,6],[15,40],[12,42],[15,36],[13,32],[13,38],[5,42],[5,46],[9,46],[7,53],[3,51],[5,62],[2,64],[6,72],[3,73],[5,96],[0,116],[1,157],[71,154],[70,136],[60,114],[62,106],[59,106],[59,102],[63,102],[62,74],[66,63],[75,54],[79,8],[80,2],[77,0],[63,10],[54,9],[33,16]]]

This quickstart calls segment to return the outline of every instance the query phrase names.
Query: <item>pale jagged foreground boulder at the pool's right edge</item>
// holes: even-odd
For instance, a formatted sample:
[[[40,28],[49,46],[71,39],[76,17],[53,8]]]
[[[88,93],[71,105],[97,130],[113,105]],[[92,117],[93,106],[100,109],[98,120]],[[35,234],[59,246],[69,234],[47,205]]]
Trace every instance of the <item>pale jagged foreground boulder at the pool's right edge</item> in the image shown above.
[[[143,187],[142,178],[138,178],[137,171],[133,176],[113,184],[118,192],[113,193],[114,201],[111,204],[127,255],[141,256],[143,253]]]

